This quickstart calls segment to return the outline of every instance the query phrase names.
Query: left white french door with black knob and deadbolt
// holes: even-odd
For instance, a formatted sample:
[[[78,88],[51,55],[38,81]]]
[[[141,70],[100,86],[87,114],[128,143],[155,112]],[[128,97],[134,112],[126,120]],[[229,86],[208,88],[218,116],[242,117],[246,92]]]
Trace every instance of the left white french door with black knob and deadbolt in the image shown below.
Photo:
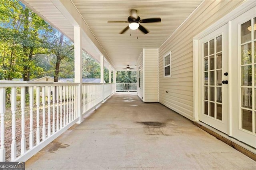
[[[199,40],[199,120],[228,133],[228,26]]]

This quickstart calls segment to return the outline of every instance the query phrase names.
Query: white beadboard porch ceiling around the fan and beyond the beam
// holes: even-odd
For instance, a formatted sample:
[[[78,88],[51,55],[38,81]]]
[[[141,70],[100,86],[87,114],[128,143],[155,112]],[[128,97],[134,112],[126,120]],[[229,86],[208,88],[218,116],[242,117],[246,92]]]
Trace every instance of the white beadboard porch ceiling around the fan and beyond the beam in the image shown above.
[[[74,39],[72,24],[54,5],[59,0],[22,0],[29,8],[43,16],[71,40]],[[65,0],[60,0],[60,2]],[[188,18],[203,0],[70,0],[104,49],[116,70],[130,65],[136,68],[143,48],[159,48],[162,43]],[[150,32],[128,30],[119,34],[128,23],[130,10],[138,10],[141,19],[158,18],[162,22],[141,24]],[[130,35],[131,34],[131,35]],[[83,37],[83,48],[99,59],[98,50]],[[100,50],[99,50],[100,51]]]

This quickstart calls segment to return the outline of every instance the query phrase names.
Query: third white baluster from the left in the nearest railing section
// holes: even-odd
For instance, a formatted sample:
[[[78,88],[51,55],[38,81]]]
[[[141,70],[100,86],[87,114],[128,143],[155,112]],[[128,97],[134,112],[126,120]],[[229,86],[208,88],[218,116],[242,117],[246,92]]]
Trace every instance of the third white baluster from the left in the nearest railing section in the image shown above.
[[[20,106],[21,106],[21,154],[26,152],[26,138],[25,138],[25,107],[26,107],[26,87],[21,87],[21,97],[20,97]]]

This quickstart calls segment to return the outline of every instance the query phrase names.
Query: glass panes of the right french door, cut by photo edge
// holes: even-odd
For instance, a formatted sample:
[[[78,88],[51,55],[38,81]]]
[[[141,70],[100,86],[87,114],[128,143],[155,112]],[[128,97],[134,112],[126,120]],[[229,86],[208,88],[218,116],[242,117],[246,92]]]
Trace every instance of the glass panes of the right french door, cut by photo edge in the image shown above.
[[[256,18],[241,25],[240,128],[256,133]]]

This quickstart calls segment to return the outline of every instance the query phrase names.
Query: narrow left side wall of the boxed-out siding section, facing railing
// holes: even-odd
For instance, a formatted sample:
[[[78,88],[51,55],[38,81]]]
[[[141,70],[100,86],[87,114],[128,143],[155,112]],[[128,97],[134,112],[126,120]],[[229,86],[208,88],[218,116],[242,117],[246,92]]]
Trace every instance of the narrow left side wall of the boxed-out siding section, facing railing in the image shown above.
[[[140,71],[139,71],[140,69]],[[137,60],[137,95],[143,100],[143,51]],[[139,73],[140,73],[140,87],[139,87]]]

